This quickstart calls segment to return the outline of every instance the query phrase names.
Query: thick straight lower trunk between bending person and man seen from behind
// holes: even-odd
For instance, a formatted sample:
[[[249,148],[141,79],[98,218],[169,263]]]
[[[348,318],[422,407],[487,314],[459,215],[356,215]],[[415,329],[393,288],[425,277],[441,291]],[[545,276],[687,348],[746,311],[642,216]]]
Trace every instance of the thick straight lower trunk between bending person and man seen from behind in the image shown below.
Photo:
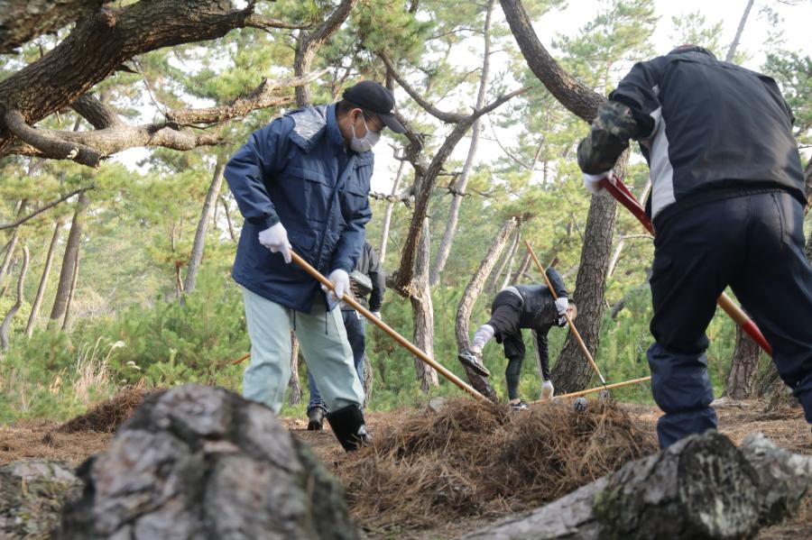
[[[615,165],[615,171],[623,178],[629,152],[625,151]],[[577,329],[593,358],[598,349],[601,335],[601,320],[606,309],[604,292],[609,259],[612,256],[612,236],[617,206],[612,197],[592,197],[589,214],[586,216],[584,248],[578,267],[573,298],[578,305]],[[598,368],[599,359],[595,359]],[[607,373],[601,371],[604,379]],[[561,394],[586,389],[593,371],[581,351],[575,336],[567,333],[567,341],[558,355],[550,376],[555,382],[556,391]]]

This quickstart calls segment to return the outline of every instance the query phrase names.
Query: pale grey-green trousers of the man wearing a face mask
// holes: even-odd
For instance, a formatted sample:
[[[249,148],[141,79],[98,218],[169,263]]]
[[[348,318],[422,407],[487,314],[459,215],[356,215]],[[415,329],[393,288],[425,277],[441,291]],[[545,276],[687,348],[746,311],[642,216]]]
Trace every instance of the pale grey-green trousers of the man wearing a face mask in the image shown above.
[[[341,311],[337,307],[326,311],[324,299],[316,297],[310,313],[294,314],[243,288],[251,338],[251,365],[243,374],[243,395],[271,407],[276,414],[291,380],[291,328],[328,409],[364,403],[364,388],[355,372]]]

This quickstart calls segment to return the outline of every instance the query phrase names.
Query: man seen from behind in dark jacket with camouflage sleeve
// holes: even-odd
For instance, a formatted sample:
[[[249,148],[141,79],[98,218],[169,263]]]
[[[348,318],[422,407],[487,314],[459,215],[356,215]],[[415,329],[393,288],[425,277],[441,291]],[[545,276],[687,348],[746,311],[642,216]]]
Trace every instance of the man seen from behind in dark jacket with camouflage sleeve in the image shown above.
[[[683,46],[632,67],[578,146],[587,188],[630,138],[651,169],[651,390],[667,447],[716,426],[705,334],[728,285],[812,423],[812,269],[804,178],[776,82]]]

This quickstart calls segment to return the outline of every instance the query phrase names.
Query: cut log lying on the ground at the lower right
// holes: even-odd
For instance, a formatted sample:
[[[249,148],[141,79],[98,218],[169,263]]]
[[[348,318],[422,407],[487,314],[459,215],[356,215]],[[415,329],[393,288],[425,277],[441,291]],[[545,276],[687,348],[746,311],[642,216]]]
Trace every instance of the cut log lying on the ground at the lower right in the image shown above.
[[[810,479],[810,456],[778,448],[761,434],[737,449],[709,431],[463,538],[750,538],[794,513]]]

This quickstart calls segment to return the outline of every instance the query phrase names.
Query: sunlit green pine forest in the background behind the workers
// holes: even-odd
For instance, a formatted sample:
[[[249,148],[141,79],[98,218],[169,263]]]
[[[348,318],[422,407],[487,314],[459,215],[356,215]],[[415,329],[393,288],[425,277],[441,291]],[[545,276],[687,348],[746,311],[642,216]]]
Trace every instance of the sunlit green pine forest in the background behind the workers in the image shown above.
[[[255,129],[297,106],[335,101],[361,78],[392,87],[410,126],[375,147],[367,239],[391,274],[383,320],[465,376],[457,350],[468,325],[484,322],[500,288],[540,279],[524,248],[529,240],[575,289],[577,325],[606,379],[648,375],[651,237],[582,187],[575,149],[586,116],[563,105],[522,54],[505,16],[516,4],[248,3],[254,13],[238,29],[143,50],[39,121],[65,137],[120,128],[126,136],[97,141],[112,156],[97,167],[89,166],[92,152],[55,160],[0,141],[0,422],[69,418],[128,385],[239,391],[245,364],[231,361],[249,343],[229,271],[242,218],[223,168]],[[521,2],[555,66],[592,99],[607,95],[634,61],[684,42],[776,78],[796,115],[808,193],[812,51],[807,38],[782,29],[783,17],[808,15],[812,2],[727,4],[732,13],[715,20],[699,12],[664,17],[653,0],[590,3],[577,13],[558,0]],[[553,22],[562,13],[577,16],[576,30],[558,32]],[[765,27],[758,50],[739,45],[751,28]],[[655,39],[658,28],[668,30],[665,42]],[[0,49],[0,103],[21,84],[23,68],[69,32]],[[799,41],[806,46],[796,48]],[[645,196],[648,169],[636,149],[624,178]],[[461,309],[466,299],[475,300],[470,312]],[[372,410],[458,392],[383,333],[369,327],[367,336]],[[708,336],[717,397],[766,386],[766,357],[721,311]],[[484,358],[503,397],[501,348],[489,345]],[[529,400],[540,394],[531,358],[521,379]],[[550,358],[559,391],[589,386],[590,371],[563,330],[550,333]],[[307,402],[306,366],[296,363],[283,415],[302,415]],[[651,399],[646,385],[616,395]]]

